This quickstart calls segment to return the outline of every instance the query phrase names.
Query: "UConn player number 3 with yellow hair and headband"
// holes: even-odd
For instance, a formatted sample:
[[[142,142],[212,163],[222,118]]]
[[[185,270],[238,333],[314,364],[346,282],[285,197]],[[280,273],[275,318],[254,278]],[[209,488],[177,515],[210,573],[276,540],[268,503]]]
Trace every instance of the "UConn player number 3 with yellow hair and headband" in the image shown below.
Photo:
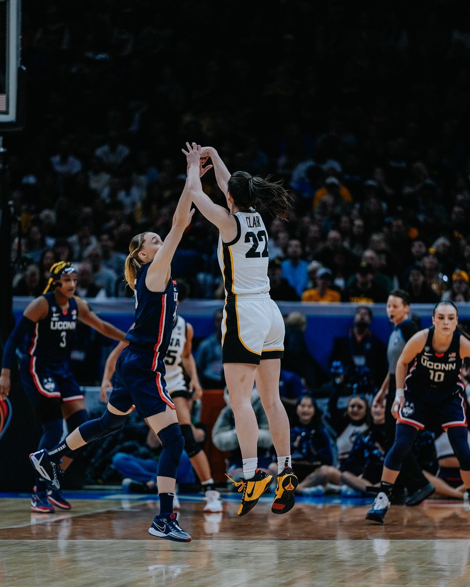
[[[19,375],[35,415],[42,427],[39,448],[52,448],[61,441],[63,419],[69,432],[88,420],[83,394],[69,366],[70,346],[77,322],[92,326],[101,334],[123,340],[125,333],[90,311],[87,303],[75,295],[77,274],[69,262],[51,267],[43,295],[26,307],[22,318],[9,336],[2,359],[0,397],[8,396],[10,369],[18,346],[28,337]],[[52,288],[52,291],[49,289]],[[62,470],[72,462],[64,460]],[[31,511],[52,513],[54,506],[70,510],[70,504],[58,488],[47,487],[40,475],[31,497]]]

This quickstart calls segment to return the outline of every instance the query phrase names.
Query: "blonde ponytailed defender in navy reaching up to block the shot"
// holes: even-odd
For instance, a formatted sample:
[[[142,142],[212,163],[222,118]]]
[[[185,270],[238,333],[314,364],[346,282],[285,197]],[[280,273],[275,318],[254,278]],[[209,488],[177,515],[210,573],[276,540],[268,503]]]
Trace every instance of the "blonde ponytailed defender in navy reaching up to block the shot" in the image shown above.
[[[190,149],[189,144],[187,147]],[[178,295],[176,282],[170,275],[170,263],[191,221],[190,207],[185,185],[164,242],[155,232],[137,234],[130,241],[125,277],[134,290],[135,326],[126,334],[129,346],[117,359],[116,382],[105,413],[79,426],[59,446],[30,456],[39,474],[53,487],[59,487],[57,473],[61,458],[96,438],[119,430],[135,405],[139,416],[159,436],[163,446],[157,470],[160,513],[153,520],[149,534],[176,542],[191,540],[177,524],[173,512],[176,471],[183,454],[184,438],[173,400],[166,389],[163,360],[172,335]]]

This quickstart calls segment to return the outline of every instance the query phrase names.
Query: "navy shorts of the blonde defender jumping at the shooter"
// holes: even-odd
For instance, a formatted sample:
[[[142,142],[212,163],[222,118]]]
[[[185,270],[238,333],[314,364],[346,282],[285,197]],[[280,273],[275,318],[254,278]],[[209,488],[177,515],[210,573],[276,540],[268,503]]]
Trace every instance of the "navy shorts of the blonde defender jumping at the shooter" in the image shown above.
[[[152,369],[153,353],[127,346],[116,362],[115,385],[109,403],[116,410],[127,412],[135,405],[143,418],[159,414],[174,403],[167,392],[164,380],[164,364],[159,360]]]

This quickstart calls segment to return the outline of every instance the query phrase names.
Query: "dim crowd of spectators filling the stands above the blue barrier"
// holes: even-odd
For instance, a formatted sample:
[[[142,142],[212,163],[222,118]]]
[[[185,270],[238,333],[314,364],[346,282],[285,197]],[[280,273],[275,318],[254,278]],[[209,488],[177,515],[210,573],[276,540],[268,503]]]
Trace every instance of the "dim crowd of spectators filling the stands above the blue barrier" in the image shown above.
[[[80,294],[130,295],[130,238],[165,236],[196,140],[290,188],[288,222],[268,225],[274,299],[384,302],[400,286],[411,302],[469,301],[465,3],[23,12],[26,124],[5,137],[15,294],[66,259]],[[213,173],[203,181],[223,204]],[[193,298],[223,297],[216,244],[196,214],[172,267]]]

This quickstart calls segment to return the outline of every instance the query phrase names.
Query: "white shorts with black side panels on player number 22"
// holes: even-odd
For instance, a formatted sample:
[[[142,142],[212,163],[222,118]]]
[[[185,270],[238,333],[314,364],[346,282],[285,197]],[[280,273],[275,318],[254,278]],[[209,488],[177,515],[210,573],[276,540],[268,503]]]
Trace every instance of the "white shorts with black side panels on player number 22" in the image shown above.
[[[222,321],[222,362],[259,365],[284,355],[284,320],[269,294],[227,296]]]

